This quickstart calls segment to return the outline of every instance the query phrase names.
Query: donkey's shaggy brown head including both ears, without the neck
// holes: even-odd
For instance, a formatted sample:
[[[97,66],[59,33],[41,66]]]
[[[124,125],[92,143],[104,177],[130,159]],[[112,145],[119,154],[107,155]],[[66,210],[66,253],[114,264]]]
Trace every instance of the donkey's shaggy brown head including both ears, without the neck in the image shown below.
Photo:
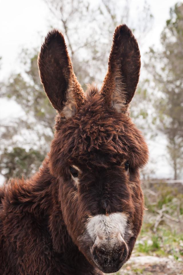
[[[130,258],[144,209],[139,168],[148,149],[128,113],[139,78],[138,44],[126,25],[117,27],[103,86],[87,95],[58,31],[46,37],[38,64],[58,112],[49,166],[65,225],[93,266],[116,272]]]

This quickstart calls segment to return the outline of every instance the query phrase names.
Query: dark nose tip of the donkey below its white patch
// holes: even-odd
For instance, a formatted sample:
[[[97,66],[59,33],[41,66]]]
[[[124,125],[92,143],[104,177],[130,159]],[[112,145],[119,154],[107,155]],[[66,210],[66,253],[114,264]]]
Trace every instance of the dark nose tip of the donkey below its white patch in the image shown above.
[[[128,255],[127,251],[128,248],[124,242],[118,242],[112,247],[107,243],[94,244],[92,256],[100,270],[104,273],[113,273],[122,267]]]

